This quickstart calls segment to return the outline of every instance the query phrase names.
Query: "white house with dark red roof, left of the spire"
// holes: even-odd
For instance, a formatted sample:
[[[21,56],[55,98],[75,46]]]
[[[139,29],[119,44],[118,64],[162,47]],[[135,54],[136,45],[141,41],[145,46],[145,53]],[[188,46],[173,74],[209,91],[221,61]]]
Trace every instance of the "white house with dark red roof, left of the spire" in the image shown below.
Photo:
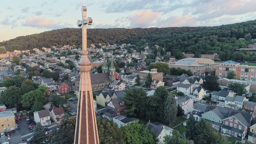
[[[49,109],[49,112],[50,112],[50,118],[56,123],[60,123],[60,121],[62,120],[65,114],[62,107],[57,108],[56,106],[52,106]]]

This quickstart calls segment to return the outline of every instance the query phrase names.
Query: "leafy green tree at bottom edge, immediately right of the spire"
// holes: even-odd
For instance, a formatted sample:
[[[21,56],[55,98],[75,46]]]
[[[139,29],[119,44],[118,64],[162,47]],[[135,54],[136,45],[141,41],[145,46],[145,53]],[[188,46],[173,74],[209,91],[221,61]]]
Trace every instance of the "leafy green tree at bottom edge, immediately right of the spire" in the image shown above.
[[[98,118],[97,128],[100,144],[126,144],[126,136],[115,122]]]

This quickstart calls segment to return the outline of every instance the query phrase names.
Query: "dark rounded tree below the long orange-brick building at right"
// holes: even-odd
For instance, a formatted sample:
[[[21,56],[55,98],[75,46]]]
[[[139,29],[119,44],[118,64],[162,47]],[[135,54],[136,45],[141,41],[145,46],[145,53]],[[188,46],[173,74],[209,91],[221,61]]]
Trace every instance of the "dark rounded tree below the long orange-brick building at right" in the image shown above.
[[[219,83],[217,82],[218,78],[217,76],[210,75],[205,77],[205,81],[203,82],[203,87],[206,90],[212,90],[212,91],[220,91]]]

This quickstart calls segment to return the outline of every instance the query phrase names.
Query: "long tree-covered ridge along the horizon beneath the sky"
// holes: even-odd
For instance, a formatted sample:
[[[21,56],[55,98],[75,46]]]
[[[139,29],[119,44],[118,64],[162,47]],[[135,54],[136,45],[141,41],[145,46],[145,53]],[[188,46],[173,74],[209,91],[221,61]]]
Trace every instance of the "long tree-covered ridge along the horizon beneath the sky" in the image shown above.
[[[142,47],[159,45],[165,51],[204,54],[208,51],[223,52],[235,48],[245,48],[250,39],[256,38],[256,20],[227,24],[213,27],[170,27],[170,28],[108,28],[88,29],[89,44],[135,44]],[[31,50],[32,48],[50,48],[66,44],[80,46],[82,44],[81,28],[64,28],[19,36],[0,42],[6,50]],[[239,38],[245,38],[247,43],[239,43]],[[202,51],[204,50],[204,51]],[[202,51],[202,52],[201,52]],[[212,52],[211,52],[212,53]]]

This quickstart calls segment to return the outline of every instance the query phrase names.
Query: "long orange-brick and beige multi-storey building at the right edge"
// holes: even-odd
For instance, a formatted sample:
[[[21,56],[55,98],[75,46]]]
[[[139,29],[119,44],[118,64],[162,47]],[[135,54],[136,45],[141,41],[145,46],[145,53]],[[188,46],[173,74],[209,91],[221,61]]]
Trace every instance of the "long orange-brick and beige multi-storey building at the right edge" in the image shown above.
[[[236,79],[254,80],[256,78],[256,66],[240,65],[240,63],[232,60],[223,62],[215,68],[215,75],[218,78],[224,78],[228,71],[234,71],[236,73]]]

